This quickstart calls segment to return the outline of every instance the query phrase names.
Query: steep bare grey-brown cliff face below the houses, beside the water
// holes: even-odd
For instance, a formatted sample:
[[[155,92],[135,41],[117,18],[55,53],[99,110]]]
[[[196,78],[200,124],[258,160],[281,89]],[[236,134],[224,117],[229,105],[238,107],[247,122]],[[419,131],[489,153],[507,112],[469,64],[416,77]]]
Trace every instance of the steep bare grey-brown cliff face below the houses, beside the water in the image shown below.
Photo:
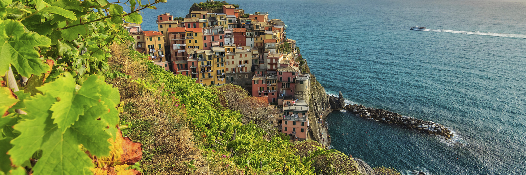
[[[316,81],[316,76],[310,74],[310,93],[309,93],[309,125],[310,138],[318,141],[322,145],[328,145],[327,139],[323,140],[320,134],[327,138],[324,125],[319,124],[319,117],[325,116],[330,112],[329,96],[325,88]],[[323,123],[325,124],[325,123]]]

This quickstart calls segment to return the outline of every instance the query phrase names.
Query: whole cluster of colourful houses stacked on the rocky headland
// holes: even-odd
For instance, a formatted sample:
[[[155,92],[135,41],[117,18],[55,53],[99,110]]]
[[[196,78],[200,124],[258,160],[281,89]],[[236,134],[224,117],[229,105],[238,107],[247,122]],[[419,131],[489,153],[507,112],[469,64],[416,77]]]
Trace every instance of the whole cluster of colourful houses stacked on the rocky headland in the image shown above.
[[[252,96],[284,106],[281,131],[306,139],[310,74],[299,69],[296,41],[286,38],[287,25],[268,19],[268,13],[239,17],[234,6],[222,8],[221,14],[192,11],[181,22],[169,13],[158,15],[158,31],[143,31],[138,24],[125,28],[135,39],[134,49],[149,54],[166,71],[203,85],[251,87]]]

